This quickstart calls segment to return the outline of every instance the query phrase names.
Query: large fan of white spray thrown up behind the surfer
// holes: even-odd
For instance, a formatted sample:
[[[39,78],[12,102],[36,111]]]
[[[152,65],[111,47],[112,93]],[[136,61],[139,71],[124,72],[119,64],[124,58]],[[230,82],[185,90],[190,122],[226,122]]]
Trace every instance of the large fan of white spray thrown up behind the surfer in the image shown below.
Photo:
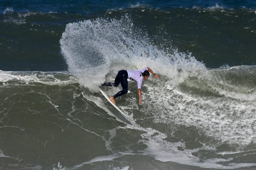
[[[175,81],[206,71],[191,54],[168,53],[154,45],[144,30],[127,15],[69,23],[60,39],[69,71],[88,88],[118,70],[150,67]],[[174,79],[174,77],[176,79]],[[96,78],[96,79],[95,79]]]

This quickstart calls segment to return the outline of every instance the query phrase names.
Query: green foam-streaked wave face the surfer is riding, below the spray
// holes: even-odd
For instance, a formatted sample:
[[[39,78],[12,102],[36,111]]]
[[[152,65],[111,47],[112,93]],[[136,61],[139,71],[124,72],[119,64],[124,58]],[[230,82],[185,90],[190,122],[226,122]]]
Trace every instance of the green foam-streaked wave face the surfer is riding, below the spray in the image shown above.
[[[180,82],[160,74],[160,79],[144,82],[142,107],[136,104],[136,84],[129,82],[130,92],[116,102],[136,120],[131,124],[116,119],[103,96],[74,74],[0,71],[2,167],[15,162],[16,168],[33,169],[90,169],[91,164],[129,168],[149,158],[149,165],[154,160],[161,167],[170,161],[182,168],[183,164],[220,169],[255,166],[253,158],[248,162],[256,147],[255,70],[254,66],[205,70]],[[109,72],[106,79],[113,80],[115,74]],[[238,81],[232,83],[234,79]],[[119,89],[104,90],[111,95]],[[26,140],[27,145],[17,140]],[[74,145],[63,160],[61,153],[70,142]],[[26,157],[13,154],[31,145],[42,151]],[[97,152],[88,155],[88,151]],[[82,157],[74,160],[77,153]],[[52,159],[34,160],[30,154]],[[124,160],[132,164],[124,165]],[[102,161],[106,162],[99,164]]]

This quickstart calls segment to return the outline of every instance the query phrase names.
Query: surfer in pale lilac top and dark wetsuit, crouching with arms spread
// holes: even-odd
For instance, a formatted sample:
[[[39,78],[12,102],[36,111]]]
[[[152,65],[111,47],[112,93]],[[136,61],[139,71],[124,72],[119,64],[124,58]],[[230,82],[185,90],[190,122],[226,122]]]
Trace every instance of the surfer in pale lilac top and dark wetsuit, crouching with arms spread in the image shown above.
[[[138,86],[138,96],[139,96],[139,105],[141,105],[141,85],[142,85],[142,79],[147,80],[149,77],[149,72],[153,74],[155,78],[159,78],[157,74],[155,74],[150,68],[145,67],[142,70],[120,70],[117,75],[114,83],[103,83],[102,86],[115,86],[117,87],[119,83],[121,83],[122,90],[119,91],[114,96],[110,97],[110,100],[116,104],[115,98],[118,96],[122,96],[128,92],[128,81],[127,79],[130,79],[131,81],[137,82]]]

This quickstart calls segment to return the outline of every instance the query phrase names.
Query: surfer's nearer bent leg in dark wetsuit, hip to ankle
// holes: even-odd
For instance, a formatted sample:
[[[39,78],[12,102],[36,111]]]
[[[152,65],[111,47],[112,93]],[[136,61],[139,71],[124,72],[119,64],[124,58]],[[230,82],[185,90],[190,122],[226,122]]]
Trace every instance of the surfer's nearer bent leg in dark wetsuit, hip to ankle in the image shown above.
[[[118,72],[118,74],[116,76],[116,78],[118,77],[118,79],[115,79],[114,86],[117,87],[118,84],[121,83],[123,89],[113,96],[114,99],[117,98],[118,96],[122,96],[128,92],[128,81],[127,81],[128,73],[127,73],[127,71],[121,70]]]

